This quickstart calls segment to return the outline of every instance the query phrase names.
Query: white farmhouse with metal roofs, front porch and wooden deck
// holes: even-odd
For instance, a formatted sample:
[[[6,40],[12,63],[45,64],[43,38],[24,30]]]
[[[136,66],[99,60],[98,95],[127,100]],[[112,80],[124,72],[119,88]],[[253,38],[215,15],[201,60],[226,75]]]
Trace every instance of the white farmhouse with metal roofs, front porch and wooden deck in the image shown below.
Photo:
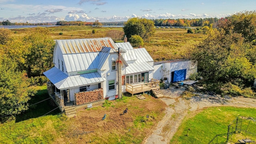
[[[92,106],[122,92],[159,90],[153,79],[153,59],[145,48],[111,38],[56,40],[54,67],[44,72],[49,95],[60,110]],[[72,112],[70,112],[71,114]]]

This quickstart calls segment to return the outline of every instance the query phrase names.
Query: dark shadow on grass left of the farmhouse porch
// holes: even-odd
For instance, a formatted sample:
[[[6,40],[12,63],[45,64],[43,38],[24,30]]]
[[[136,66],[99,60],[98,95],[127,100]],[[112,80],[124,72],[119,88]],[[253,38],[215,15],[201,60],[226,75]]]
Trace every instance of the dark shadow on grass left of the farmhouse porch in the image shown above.
[[[60,113],[59,108],[57,108],[56,104],[51,99],[48,99],[48,98],[49,98],[49,95],[47,93],[47,90],[38,90],[35,96],[32,96],[31,99],[28,101],[28,104],[29,104],[28,110],[22,112],[21,114],[16,115],[15,122],[28,120],[30,118],[38,118],[40,116],[44,116],[45,114],[46,115],[59,114]],[[36,104],[37,102],[40,102],[40,103]],[[32,105],[32,104],[35,104],[35,105]]]

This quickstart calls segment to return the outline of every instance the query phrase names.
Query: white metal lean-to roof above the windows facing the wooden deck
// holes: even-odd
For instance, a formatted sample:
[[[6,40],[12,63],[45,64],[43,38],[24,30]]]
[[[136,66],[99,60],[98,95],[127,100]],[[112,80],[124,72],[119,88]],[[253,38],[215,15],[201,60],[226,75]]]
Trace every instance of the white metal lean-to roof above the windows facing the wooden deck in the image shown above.
[[[125,74],[134,74],[154,70],[154,68],[148,64],[148,62],[139,62],[128,64],[125,70]]]

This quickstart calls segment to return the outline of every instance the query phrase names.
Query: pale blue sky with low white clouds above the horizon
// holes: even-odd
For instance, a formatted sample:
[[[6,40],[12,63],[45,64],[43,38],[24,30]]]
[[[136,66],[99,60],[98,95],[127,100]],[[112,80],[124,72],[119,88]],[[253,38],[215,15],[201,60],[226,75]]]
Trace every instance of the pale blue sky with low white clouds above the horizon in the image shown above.
[[[256,10],[256,0],[0,0],[0,21],[223,18],[244,10]]]

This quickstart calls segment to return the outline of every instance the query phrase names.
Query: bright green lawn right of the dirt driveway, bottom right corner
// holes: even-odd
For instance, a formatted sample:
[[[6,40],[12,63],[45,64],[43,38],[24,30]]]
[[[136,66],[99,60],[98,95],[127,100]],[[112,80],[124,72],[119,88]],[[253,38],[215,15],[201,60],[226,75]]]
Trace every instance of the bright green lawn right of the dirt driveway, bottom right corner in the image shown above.
[[[227,133],[228,125],[234,123],[233,120],[236,120],[238,115],[256,118],[255,110],[255,108],[236,107],[206,108],[194,117],[184,120],[170,143],[208,144],[208,142],[210,142],[210,140],[212,140],[212,138],[217,134]],[[251,122],[248,130],[255,133],[255,128],[256,124]],[[256,140],[256,136],[242,132],[239,134],[233,134],[232,142],[237,142],[238,139],[244,138]],[[226,136],[222,139],[225,140]]]

